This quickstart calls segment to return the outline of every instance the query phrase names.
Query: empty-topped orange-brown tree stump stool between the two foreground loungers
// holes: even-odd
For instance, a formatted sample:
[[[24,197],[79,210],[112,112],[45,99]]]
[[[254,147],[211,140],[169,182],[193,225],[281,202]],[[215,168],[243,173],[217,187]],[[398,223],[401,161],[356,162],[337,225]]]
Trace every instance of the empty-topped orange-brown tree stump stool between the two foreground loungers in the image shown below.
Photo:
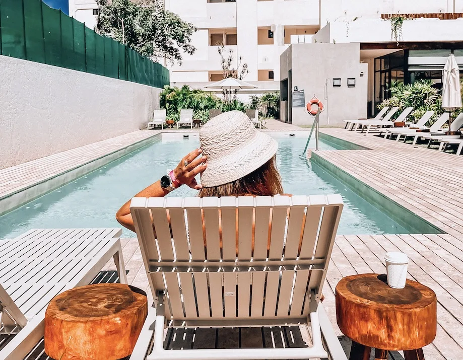
[[[132,353],[148,314],[146,293],[103,283],[56,296],[45,312],[45,353],[55,360],[116,360]]]

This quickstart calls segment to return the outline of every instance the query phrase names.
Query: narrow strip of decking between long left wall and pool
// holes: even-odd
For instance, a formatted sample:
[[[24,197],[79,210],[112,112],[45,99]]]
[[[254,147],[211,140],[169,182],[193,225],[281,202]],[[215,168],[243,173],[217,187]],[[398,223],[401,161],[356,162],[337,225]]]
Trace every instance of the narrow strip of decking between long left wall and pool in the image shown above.
[[[160,131],[134,131],[0,170],[0,198],[148,139]]]

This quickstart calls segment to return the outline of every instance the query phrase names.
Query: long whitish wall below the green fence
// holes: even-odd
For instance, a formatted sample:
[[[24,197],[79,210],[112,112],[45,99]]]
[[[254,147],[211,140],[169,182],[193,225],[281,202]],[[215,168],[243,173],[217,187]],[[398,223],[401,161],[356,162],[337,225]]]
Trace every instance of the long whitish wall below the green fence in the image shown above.
[[[160,89],[0,56],[0,169],[139,130]]]

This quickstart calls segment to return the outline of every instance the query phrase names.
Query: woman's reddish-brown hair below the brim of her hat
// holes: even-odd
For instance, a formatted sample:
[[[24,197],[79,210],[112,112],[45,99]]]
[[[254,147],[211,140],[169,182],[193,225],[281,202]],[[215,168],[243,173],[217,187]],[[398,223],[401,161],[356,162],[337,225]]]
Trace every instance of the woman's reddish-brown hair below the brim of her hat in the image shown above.
[[[283,186],[274,155],[260,168],[238,180],[223,185],[203,187],[199,196],[264,196],[277,194],[283,194]]]

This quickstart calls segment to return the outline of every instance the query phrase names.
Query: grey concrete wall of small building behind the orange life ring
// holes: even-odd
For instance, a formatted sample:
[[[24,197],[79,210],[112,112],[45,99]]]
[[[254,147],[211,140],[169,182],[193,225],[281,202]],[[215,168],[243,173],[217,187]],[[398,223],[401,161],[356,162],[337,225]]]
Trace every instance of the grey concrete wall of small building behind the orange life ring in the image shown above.
[[[297,86],[305,90],[306,102],[316,95],[325,105],[320,125],[340,126],[343,119],[366,117],[368,64],[360,63],[360,44],[293,44],[281,56],[281,79],[288,77],[283,71],[290,69],[289,90]],[[333,87],[333,78],[341,78],[341,88]],[[355,88],[347,87],[347,78],[356,79]],[[308,125],[312,121],[305,108],[292,108],[293,124]]]

